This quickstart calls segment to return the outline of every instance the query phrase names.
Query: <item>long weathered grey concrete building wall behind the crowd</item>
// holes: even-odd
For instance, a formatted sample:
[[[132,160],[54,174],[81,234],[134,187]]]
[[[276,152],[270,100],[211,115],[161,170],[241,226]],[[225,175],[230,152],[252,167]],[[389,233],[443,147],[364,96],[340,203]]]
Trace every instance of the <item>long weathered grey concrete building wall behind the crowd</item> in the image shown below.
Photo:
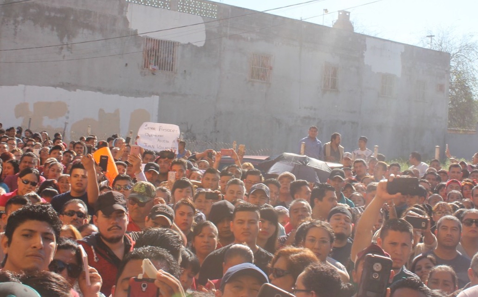
[[[271,153],[297,150],[311,125],[323,142],[341,133],[346,150],[366,135],[368,147],[379,145],[389,158],[412,150],[431,157],[435,145],[444,143],[448,54],[220,3],[214,3],[217,18],[204,17],[178,11],[178,1],[166,1],[170,9],[126,0],[3,6],[0,49],[158,30],[140,35],[180,44],[175,71],[154,75],[142,69],[142,36],[0,51],[0,100],[12,101],[1,110],[4,125],[24,124],[25,117],[15,114],[19,103],[44,105],[69,94],[66,111],[55,113],[54,120],[45,110],[25,110],[60,130],[67,117],[100,127],[101,109],[118,110],[119,124],[105,125],[101,133],[125,135],[144,122],[142,112],[130,113],[139,109],[149,113],[148,121],[179,125],[187,140],[236,140]],[[272,55],[269,83],[248,78],[251,53]],[[324,63],[338,67],[336,91],[322,89]],[[382,74],[395,78],[390,97],[380,96]],[[423,100],[417,99],[418,81],[427,86]],[[437,91],[438,84],[444,91]],[[18,87],[47,93],[20,94]],[[83,134],[86,128],[79,126],[70,126],[71,136]]]

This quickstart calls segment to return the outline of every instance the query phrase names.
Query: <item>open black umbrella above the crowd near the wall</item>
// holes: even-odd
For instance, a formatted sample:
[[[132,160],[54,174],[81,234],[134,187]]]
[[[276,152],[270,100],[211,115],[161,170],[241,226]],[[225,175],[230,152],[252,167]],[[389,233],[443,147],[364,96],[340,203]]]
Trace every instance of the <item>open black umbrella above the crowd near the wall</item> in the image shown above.
[[[305,179],[309,182],[326,182],[332,171],[324,161],[291,152],[281,153],[273,159],[260,162],[256,167],[270,174],[289,171],[297,179]]]

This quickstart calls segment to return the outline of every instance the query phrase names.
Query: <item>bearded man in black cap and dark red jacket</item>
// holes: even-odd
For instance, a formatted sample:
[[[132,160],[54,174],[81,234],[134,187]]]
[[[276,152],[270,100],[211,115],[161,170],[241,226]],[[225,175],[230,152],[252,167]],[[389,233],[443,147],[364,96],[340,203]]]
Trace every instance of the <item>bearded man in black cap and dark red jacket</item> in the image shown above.
[[[96,268],[103,279],[101,293],[111,294],[118,267],[123,257],[133,250],[134,241],[125,234],[128,225],[126,200],[123,194],[108,191],[95,203],[93,223],[98,232],[78,241],[88,255],[88,265]]]

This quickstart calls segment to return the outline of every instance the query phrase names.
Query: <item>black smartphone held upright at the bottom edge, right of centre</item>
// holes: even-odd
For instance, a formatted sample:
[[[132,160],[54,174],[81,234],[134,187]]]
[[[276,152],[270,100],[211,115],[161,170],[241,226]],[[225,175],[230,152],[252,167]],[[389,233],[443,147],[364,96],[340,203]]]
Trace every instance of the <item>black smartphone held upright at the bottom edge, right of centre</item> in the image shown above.
[[[380,255],[366,255],[357,297],[384,297],[391,269],[392,259]]]

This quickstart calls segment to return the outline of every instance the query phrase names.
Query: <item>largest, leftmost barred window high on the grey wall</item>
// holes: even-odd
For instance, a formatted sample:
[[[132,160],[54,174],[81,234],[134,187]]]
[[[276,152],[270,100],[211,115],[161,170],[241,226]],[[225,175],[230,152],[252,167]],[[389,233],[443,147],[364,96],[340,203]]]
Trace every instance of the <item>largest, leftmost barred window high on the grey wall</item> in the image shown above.
[[[146,37],[143,47],[143,68],[174,72],[179,42]]]

